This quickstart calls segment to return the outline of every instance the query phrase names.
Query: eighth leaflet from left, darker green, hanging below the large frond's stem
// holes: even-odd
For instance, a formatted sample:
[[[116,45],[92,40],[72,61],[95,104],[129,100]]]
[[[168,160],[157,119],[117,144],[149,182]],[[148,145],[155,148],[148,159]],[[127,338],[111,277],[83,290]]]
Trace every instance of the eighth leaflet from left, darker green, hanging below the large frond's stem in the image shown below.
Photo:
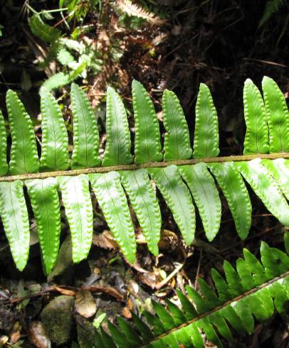
[[[251,227],[252,205],[241,174],[233,162],[209,163],[208,167],[226,197],[238,235],[245,239]]]

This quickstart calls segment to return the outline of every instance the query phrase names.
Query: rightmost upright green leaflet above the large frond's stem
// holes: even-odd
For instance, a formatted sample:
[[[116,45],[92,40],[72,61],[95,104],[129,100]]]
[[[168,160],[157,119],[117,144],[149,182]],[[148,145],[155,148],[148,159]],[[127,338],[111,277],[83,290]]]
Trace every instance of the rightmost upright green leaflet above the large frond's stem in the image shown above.
[[[270,77],[263,77],[262,89],[269,126],[270,153],[289,152],[289,112],[285,97]]]

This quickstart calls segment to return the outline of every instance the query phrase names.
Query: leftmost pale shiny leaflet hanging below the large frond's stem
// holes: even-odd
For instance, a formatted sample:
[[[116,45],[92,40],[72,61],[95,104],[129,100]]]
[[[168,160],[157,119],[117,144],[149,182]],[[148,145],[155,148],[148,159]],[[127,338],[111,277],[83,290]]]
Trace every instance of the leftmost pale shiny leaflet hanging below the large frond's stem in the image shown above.
[[[23,271],[29,252],[29,221],[23,183],[0,183],[0,214],[16,267]]]

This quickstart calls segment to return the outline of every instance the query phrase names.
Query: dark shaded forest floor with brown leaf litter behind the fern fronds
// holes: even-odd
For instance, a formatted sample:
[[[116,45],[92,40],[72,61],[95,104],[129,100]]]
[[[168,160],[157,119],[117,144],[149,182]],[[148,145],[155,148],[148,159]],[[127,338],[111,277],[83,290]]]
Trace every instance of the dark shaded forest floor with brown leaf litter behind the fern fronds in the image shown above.
[[[47,44],[31,33],[24,4],[27,1],[1,2],[0,24],[4,28],[0,37],[0,108],[5,110],[6,90],[16,90],[37,127],[39,86],[61,66],[53,60],[48,67],[39,67],[39,57],[47,54]],[[157,113],[161,111],[162,91],[174,90],[181,100],[189,129],[193,130],[196,95],[199,83],[204,82],[211,89],[218,112],[221,154],[238,155],[242,153],[246,131],[242,107],[244,80],[251,78],[260,87],[263,75],[268,75],[278,82],[285,97],[289,96],[288,11],[275,13],[258,28],[266,1],[156,0],[147,2],[149,10],[159,19],[142,21],[136,26],[130,23],[127,27],[118,22],[115,1],[100,2],[101,15],[100,11],[89,11],[83,23],[93,28],[85,34],[85,40],[89,45],[97,45],[103,65],[95,70],[98,72],[88,70],[85,78],[77,80],[87,87],[98,110],[100,125],[104,124],[107,85],[117,88],[131,110],[131,82],[136,79],[151,94]],[[56,9],[58,1],[42,4],[30,1],[30,5],[37,11],[42,10],[39,6]],[[53,24],[57,24],[56,19]],[[69,25],[70,31],[63,22],[58,27],[68,36],[73,21]],[[119,56],[117,50],[121,52]],[[63,87],[59,97],[69,102],[68,95]],[[67,111],[69,114],[68,108]],[[51,303],[56,308],[62,306],[63,315],[68,318],[61,333],[64,336],[57,338],[58,344],[71,347],[72,342],[78,342],[80,347],[85,347],[93,330],[93,318],[103,312],[108,317],[130,318],[130,310],[140,312],[151,308],[152,298],[164,303],[174,297],[176,288],[184,290],[188,283],[196,286],[198,277],[210,283],[211,267],[221,270],[225,259],[235,263],[244,247],[256,256],[261,240],[282,248],[283,227],[253,192],[251,197],[252,227],[245,241],[236,234],[231,212],[222,196],[221,229],[216,239],[209,244],[198,218],[196,240],[191,247],[184,246],[171,212],[159,197],[163,220],[161,254],[157,258],[152,256],[140,236],[138,259],[133,266],[122,258],[101,217],[95,221],[88,259],[73,265],[68,222],[63,218],[61,251],[48,278],[41,268],[33,220],[29,261],[22,273],[14,266],[0,226],[0,347],[1,344],[49,347],[41,320]],[[275,314],[269,322],[257,325],[253,335],[244,336],[242,342],[236,339],[227,347],[288,347],[288,325],[288,317]],[[210,342],[207,347],[212,347]]]

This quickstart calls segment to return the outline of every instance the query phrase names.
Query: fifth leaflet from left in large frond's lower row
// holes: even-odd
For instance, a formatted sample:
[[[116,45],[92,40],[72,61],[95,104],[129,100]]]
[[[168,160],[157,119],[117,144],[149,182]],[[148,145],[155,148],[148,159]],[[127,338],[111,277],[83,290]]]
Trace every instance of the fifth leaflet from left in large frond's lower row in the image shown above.
[[[130,197],[130,202],[137,214],[140,227],[142,227],[147,246],[152,254],[157,256],[162,218],[159,202],[149,182],[147,169],[125,170],[120,172],[120,175],[122,185]]]

